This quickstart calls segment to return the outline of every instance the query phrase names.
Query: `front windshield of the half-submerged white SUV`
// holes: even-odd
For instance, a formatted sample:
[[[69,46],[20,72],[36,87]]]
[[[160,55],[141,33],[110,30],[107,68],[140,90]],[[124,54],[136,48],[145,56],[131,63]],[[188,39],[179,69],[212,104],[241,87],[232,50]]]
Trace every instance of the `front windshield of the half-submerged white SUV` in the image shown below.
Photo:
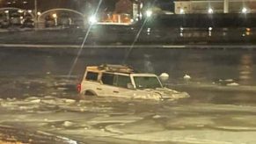
[[[134,76],[137,89],[157,89],[162,88],[156,76]]]

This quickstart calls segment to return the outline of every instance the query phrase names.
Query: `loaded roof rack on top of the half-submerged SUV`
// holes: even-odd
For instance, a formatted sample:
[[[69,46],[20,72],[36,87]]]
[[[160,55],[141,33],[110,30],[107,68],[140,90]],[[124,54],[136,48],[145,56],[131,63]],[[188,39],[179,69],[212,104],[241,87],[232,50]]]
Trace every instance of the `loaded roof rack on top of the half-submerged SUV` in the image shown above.
[[[99,66],[100,70],[109,72],[134,73],[135,70],[126,65],[103,64]]]

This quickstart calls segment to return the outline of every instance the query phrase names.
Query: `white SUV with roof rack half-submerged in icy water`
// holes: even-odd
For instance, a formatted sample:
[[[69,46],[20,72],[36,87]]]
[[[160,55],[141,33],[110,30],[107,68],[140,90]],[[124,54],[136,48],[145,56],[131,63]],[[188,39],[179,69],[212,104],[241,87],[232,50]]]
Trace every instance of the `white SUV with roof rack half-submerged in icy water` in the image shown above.
[[[82,97],[128,97],[141,99],[178,99],[189,97],[187,92],[164,88],[154,74],[135,73],[122,65],[90,66],[82,83],[77,85]]]

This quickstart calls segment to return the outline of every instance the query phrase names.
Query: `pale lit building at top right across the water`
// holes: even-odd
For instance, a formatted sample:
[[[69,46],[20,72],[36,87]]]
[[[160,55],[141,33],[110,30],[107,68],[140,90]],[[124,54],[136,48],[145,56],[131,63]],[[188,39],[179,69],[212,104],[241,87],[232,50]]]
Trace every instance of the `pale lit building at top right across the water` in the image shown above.
[[[255,0],[176,0],[175,13],[253,13]]]

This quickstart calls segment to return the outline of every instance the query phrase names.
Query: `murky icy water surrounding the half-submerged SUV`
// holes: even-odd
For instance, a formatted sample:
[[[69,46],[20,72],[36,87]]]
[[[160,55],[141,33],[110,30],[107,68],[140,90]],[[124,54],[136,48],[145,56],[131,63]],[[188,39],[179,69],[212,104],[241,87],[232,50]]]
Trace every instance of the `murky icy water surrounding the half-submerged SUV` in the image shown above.
[[[3,127],[9,127],[26,132],[21,140],[34,143],[256,142],[254,50],[133,50],[129,65],[157,75],[168,73],[165,86],[190,95],[175,101],[77,99],[76,84],[85,66],[118,64],[127,52],[123,49],[84,49],[71,76],[67,75],[77,50],[0,52],[0,138],[10,132]],[[21,137],[12,134],[13,139]]]

